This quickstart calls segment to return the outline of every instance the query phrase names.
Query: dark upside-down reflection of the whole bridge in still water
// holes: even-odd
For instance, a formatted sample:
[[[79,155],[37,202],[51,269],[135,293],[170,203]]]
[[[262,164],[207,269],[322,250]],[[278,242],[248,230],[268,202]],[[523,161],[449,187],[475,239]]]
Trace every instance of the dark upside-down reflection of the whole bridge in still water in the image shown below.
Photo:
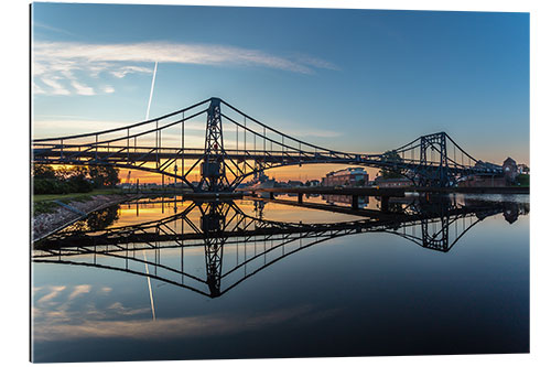
[[[454,196],[436,196],[395,204],[387,216],[305,224],[264,219],[262,201],[255,202],[252,215],[233,201],[173,203],[175,211],[175,205],[184,208],[161,220],[119,227],[109,227],[118,206],[97,212],[34,244],[32,260],[125,271],[217,298],[283,258],[334,238],[385,233],[447,252],[486,217],[503,213],[512,223],[529,212],[525,203],[465,199],[460,204]],[[143,202],[123,205],[139,211]],[[204,251],[203,276],[184,267],[186,249]],[[141,257],[141,251],[153,253]]]

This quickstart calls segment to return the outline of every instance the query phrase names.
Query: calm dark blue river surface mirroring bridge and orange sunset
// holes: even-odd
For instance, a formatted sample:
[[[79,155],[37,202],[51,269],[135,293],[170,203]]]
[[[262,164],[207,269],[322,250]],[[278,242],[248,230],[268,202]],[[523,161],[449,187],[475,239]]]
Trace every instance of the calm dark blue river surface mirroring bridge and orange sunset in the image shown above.
[[[34,361],[529,352],[527,195],[160,201],[35,246]]]

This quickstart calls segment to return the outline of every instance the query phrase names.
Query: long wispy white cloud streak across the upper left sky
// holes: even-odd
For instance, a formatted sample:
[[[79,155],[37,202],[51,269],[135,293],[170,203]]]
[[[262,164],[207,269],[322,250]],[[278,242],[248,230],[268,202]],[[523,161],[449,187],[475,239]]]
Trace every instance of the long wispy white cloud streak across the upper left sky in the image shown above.
[[[227,45],[205,45],[166,42],[123,44],[89,44],[77,42],[34,43],[33,73],[40,83],[39,93],[54,95],[94,95],[112,93],[105,88],[85,86],[77,74],[93,78],[152,73],[144,63],[176,63],[212,66],[256,66],[300,74],[314,74],[316,69],[338,69],[331,62],[316,57],[278,56],[260,50]],[[76,82],[76,83],[75,83]]]

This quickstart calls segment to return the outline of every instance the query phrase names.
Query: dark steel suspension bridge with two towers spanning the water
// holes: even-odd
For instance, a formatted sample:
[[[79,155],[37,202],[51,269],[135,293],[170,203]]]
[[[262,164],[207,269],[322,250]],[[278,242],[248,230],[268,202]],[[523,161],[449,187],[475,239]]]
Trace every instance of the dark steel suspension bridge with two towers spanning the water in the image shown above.
[[[205,115],[203,144],[193,133],[202,129],[197,118]],[[313,163],[385,169],[421,186],[450,186],[473,174],[503,174],[500,166],[476,160],[445,132],[420,137],[389,152],[347,153],[311,144],[219,98],[117,129],[32,141],[34,163],[110,165],[154,172],[162,174],[163,180],[177,180],[194,192],[231,192],[246,177],[261,171]],[[192,175],[197,171],[201,180],[194,182]]]

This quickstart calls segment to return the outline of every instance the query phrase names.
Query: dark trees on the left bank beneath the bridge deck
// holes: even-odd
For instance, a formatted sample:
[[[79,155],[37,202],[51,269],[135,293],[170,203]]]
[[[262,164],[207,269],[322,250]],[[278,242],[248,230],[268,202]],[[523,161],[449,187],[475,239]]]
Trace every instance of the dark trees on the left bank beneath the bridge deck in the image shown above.
[[[119,183],[119,169],[102,165],[62,166],[48,164],[32,166],[34,194],[88,193],[94,188],[115,187]]]

